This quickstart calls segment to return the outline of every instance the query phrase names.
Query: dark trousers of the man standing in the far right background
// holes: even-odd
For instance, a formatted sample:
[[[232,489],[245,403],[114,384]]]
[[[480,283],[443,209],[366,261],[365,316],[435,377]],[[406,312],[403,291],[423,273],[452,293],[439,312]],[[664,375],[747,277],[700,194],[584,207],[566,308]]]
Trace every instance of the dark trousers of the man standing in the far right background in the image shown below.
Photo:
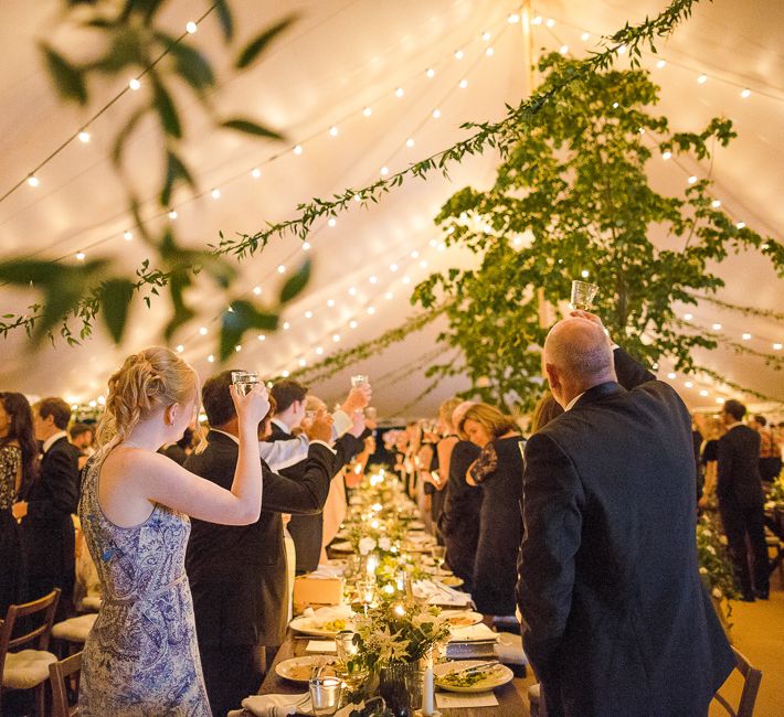
[[[762,505],[741,507],[737,503],[719,503],[721,522],[730,545],[730,555],[735,567],[735,575],[744,597],[752,597],[754,589],[765,591],[769,589],[767,577],[767,545],[765,543],[764,511]],[[752,571],[749,569],[749,549],[746,536],[751,547],[753,561],[754,584],[752,587]]]

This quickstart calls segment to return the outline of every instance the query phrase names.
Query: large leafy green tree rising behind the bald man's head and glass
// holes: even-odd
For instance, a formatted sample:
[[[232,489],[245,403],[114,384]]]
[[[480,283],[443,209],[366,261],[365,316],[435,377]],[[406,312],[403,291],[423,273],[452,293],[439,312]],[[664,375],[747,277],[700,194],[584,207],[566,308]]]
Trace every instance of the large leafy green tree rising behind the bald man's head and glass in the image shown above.
[[[424,308],[447,302],[439,340],[463,353],[464,365],[436,371],[467,373],[467,394],[478,390],[507,409],[532,407],[542,385],[540,298],[563,302],[580,278],[600,286],[596,311],[611,335],[649,366],[668,357],[691,372],[693,349],[721,343],[781,367],[781,356],[675,313],[679,303],[697,303],[696,291],[709,296],[723,286],[713,267],[731,252],[760,252],[784,275],[782,246],[733,224],[712,203],[709,180],[685,182],[682,196],[659,194],[648,182],[651,158],[709,158],[713,142],[725,147],[735,137],[731,122],[716,118],[699,133],[674,132],[651,114],[658,87],[647,72],[595,72],[562,86],[580,67],[558,53],[541,60],[538,94],[550,101],[517,127],[495,185],[458,191],[436,218],[448,245],[480,257],[477,269],[433,274],[415,288]]]

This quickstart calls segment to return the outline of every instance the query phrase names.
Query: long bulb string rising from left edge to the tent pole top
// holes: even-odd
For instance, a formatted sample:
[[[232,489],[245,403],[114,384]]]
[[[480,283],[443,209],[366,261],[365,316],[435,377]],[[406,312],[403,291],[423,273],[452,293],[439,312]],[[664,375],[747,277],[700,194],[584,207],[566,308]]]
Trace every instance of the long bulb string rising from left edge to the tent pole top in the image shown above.
[[[213,7],[214,7],[214,6],[213,6]],[[504,21],[498,21],[498,22],[496,22],[496,23],[491,23],[489,26],[490,26],[490,28],[494,28],[494,29],[497,29],[497,28],[500,26],[502,23],[508,23],[508,20],[504,20]],[[186,33],[186,34],[188,34],[188,33]],[[486,32],[483,33],[483,34],[486,34]],[[469,35],[462,44],[463,44],[463,46],[472,45],[473,43],[477,42],[481,36],[483,36],[481,34],[480,34],[480,35],[477,35],[475,32],[472,32],[472,35]],[[481,55],[480,55],[480,58],[481,58]],[[423,74],[424,74],[425,76],[427,76],[428,79],[430,79],[430,78],[432,78],[432,77],[431,77],[431,75],[428,74],[428,72],[432,71],[433,73],[435,73],[434,67],[437,67],[438,65],[444,66],[444,65],[446,65],[446,62],[448,62],[448,61],[447,61],[447,60],[442,60],[442,61],[439,61],[439,63],[436,63],[435,65],[428,65],[427,67],[425,67],[425,68],[423,68],[423,69],[421,69],[421,71],[417,71],[416,73],[412,73],[406,79],[403,81],[402,84],[403,84],[403,85],[409,84],[409,83],[413,82],[414,79],[421,77]],[[476,65],[476,64],[478,64],[478,63],[475,63],[475,65]],[[474,69],[474,67],[472,67],[472,71],[473,71],[473,69]],[[350,120],[350,119],[354,119],[354,118],[356,118],[358,115],[360,115],[360,114],[364,115],[365,117],[370,117],[370,116],[372,115],[372,107],[373,107],[374,105],[378,105],[379,103],[381,103],[381,101],[383,101],[383,100],[388,100],[389,98],[394,97],[396,90],[398,90],[400,87],[401,87],[401,83],[398,82],[398,84],[395,85],[395,88],[394,88],[394,89],[393,89],[393,88],[389,88],[389,89],[385,89],[385,90],[383,90],[383,92],[380,92],[373,99],[370,100],[370,104],[363,105],[362,108],[358,108],[358,109],[354,109],[354,110],[352,110],[352,111],[350,111],[350,113],[346,113],[342,117],[338,118],[337,120],[333,119],[333,120],[332,120],[329,125],[327,125],[326,127],[322,127],[321,129],[311,132],[310,135],[308,135],[308,136],[301,138],[300,140],[298,140],[298,141],[296,141],[296,142],[294,142],[294,143],[287,146],[285,149],[278,150],[278,151],[274,152],[273,154],[267,156],[267,157],[266,157],[265,159],[263,159],[261,162],[256,162],[256,163],[252,164],[250,168],[246,168],[245,170],[243,170],[243,171],[241,171],[241,172],[236,172],[236,173],[234,173],[234,174],[232,174],[232,175],[230,175],[230,176],[227,176],[227,178],[225,178],[225,179],[223,179],[223,180],[221,180],[221,181],[219,181],[219,182],[215,182],[215,183],[212,183],[212,184],[206,184],[206,186],[210,186],[210,189],[206,189],[206,190],[204,190],[204,191],[202,191],[202,192],[199,192],[198,194],[191,194],[191,195],[189,195],[187,199],[182,200],[182,201],[179,202],[177,205],[172,205],[172,206],[169,207],[168,210],[161,210],[161,211],[158,211],[158,212],[151,214],[150,216],[147,217],[146,222],[153,222],[153,221],[156,221],[156,220],[162,220],[162,218],[167,218],[167,217],[168,217],[170,221],[173,221],[173,220],[178,218],[178,216],[179,216],[179,211],[181,211],[182,207],[184,207],[186,205],[191,204],[191,203],[193,203],[193,202],[195,202],[195,201],[198,201],[198,200],[201,200],[201,199],[203,199],[203,197],[205,197],[205,196],[212,196],[213,199],[220,199],[221,193],[222,193],[222,192],[221,192],[222,189],[224,189],[225,186],[227,186],[229,184],[231,184],[231,183],[233,183],[233,182],[235,182],[235,181],[237,181],[237,180],[247,179],[248,175],[250,175],[252,179],[254,179],[254,180],[259,179],[259,178],[262,176],[262,169],[265,168],[265,167],[267,167],[267,165],[269,165],[269,164],[272,164],[273,162],[275,162],[275,161],[277,161],[277,160],[279,160],[279,159],[282,159],[282,158],[289,157],[289,156],[292,156],[292,154],[294,154],[294,156],[299,156],[299,154],[301,154],[301,153],[303,153],[303,148],[304,148],[306,145],[309,145],[310,142],[312,142],[312,141],[317,140],[317,139],[322,138],[325,135],[327,135],[327,136],[329,136],[329,137],[336,137],[337,135],[333,135],[333,133],[331,132],[331,130],[332,130],[333,128],[339,128],[340,125],[342,125],[343,122],[346,122],[346,121],[348,121],[348,120]],[[125,90],[124,90],[124,92],[125,92]],[[368,113],[368,109],[371,109],[371,111]],[[152,199],[153,199],[153,197],[147,197],[146,200],[142,201],[142,204],[149,203],[150,201],[152,201]],[[117,217],[114,217],[114,218],[112,218],[112,220],[107,220],[107,221],[104,222],[104,223],[117,223]],[[93,228],[95,228],[95,227],[93,227]],[[134,231],[135,228],[137,228],[137,227],[131,226],[131,227],[129,227],[129,228],[126,228],[126,229],[124,229],[121,233],[119,233],[119,236],[120,236],[121,238],[124,238],[125,240],[131,240],[133,237],[134,237],[134,232],[133,232],[133,231]],[[64,260],[64,259],[73,258],[74,256],[77,256],[78,254],[84,254],[84,255],[86,256],[86,253],[87,253],[87,252],[89,252],[89,250],[92,250],[92,249],[94,249],[94,248],[96,248],[96,247],[98,247],[98,246],[102,246],[102,245],[104,245],[104,244],[106,244],[106,243],[108,243],[108,242],[115,240],[115,239],[117,239],[117,238],[118,238],[118,233],[117,233],[117,232],[113,232],[113,233],[107,234],[106,236],[104,236],[104,237],[102,237],[102,238],[98,238],[98,239],[95,239],[94,242],[91,242],[89,244],[83,244],[82,246],[77,246],[75,252],[74,252],[74,250],[71,250],[71,252],[68,252],[67,254],[63,254],[63,255],[56,257],[56,258],[53,259],[53,260],[54,260],[54,261],[62,261],[62,260]],[[36,252],[34,252],[34,253],[32,253],[32,254],[25,255],[25,257],[27,257],[27,258],[32,258],[32,257],[35,257],[35,256],[40,256],[41,254],[44,254],[45,252],[50,250],[51,248],[54,248],[54,247],[60,246],[60,245],[62,245],[62,242],[53,242],[52,244],[50,244],[50,245],[46,246],[46,247],[42,247],[41,249],[38,249]],[[80,258],[80,257],[77,257],[77,258]],[[84,259],[84,257],[81,257],[81,258],[80,258],[80,260],[83,260],[83,259]]]

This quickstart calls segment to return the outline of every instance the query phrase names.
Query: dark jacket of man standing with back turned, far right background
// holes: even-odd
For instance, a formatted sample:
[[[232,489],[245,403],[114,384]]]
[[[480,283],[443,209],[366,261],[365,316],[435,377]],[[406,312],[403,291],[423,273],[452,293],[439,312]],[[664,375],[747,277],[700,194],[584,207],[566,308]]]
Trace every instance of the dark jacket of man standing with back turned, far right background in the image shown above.
[[[762,506],[760,434],[749,426],[734,426],[719,439],[716,494],[722,509]]]

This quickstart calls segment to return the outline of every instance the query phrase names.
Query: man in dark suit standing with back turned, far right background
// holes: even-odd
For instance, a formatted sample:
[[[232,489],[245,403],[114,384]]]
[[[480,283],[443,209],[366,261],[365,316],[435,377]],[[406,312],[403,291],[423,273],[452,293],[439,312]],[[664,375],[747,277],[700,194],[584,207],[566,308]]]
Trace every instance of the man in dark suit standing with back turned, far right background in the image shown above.
[[[770,586],[760,478],[760,434],[741,422],[744,415],[743,404],[734,399],[724,402],[721,419],[727,432],[719,439],[716,496],[743,600],[753,602],[755,596],[767,600]],[[754,563],[753,586],[746,536]]]

